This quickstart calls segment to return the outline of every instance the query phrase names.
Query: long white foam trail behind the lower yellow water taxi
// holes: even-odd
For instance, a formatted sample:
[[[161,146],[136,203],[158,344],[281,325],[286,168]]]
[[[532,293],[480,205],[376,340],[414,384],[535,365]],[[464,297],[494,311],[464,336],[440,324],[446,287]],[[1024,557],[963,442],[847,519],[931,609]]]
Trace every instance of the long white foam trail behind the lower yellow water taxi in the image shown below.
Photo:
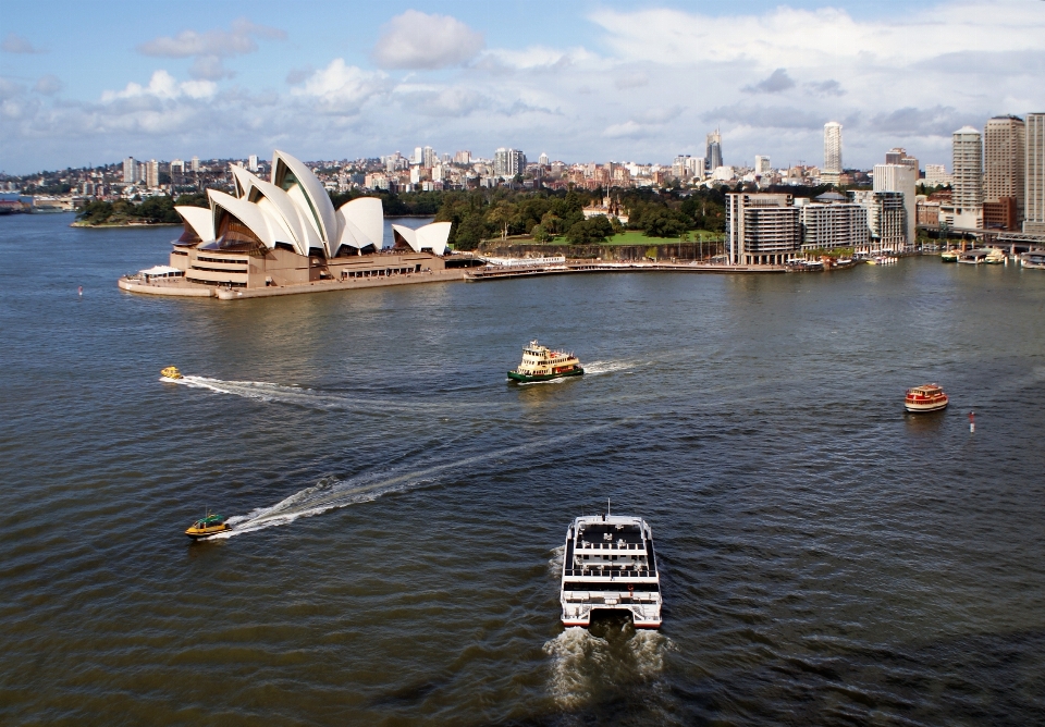
[[[202,540],[221,540],[233,538],[246,532],[256,532],[265,528],[287,525],[303,517],[320,515],[327,510],[346,507],[360,502],[369,502],[390,492],[397,492],[419,484],[430,482],[446,470],[458,470],[476,463],[489,459],[508,457],[529,449],[548,447],[555,443],[608,429],[615,424],[601,424],[586,429],[571,430],[567,434],[544,438],[527,444],[519,444],[504,449],[472,455],[464,459],[444,461],[420,469],[408,469],[407,466],[392,469],[388,472],[372,472],[354,477],[349,480],[339,480],[334,477],[323,478],[317,484],[295,492],[290,497],[281,500],[269,507],[255,509],[246,515],[230,517],[228,522],[232,530],[220,532]],[[416,464],[411,467],[416,467]]]

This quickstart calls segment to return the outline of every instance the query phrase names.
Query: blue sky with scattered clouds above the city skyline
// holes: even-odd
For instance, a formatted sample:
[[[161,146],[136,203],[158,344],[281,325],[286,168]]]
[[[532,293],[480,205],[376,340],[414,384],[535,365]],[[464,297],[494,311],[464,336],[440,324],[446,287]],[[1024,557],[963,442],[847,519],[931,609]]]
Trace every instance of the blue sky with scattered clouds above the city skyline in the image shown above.
[[[846,167],[1045,111],[1045,2],[5,3],[0,171],[417,146]]]

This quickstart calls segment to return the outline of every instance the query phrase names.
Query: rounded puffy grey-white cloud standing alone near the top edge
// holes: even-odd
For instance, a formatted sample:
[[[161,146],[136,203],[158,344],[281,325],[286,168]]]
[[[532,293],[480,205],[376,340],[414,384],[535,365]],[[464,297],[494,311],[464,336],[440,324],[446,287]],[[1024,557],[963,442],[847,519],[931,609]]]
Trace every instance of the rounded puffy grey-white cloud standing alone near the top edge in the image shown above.
[[[383,69],[445,69],[463,65],[485,46],[481,33],[450,15],[407,10],[378,39],[372,58]]]

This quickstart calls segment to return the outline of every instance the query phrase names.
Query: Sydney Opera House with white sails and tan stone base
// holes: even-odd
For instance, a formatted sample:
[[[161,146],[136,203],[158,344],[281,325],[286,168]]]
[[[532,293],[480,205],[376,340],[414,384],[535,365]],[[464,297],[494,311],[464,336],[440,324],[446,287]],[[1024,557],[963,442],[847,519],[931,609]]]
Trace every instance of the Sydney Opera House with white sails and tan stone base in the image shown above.
[[[242,167],[232,173],[235,194],[208,189],[209,209],[174,208],[184,232],[170,264],[123,278],[122,288],[225,298],[460,276],[443,258],[450,222],[392,225],[385,248],[380,199],[334,209],[312,171],[287,153],[275,152],[269,182]]]

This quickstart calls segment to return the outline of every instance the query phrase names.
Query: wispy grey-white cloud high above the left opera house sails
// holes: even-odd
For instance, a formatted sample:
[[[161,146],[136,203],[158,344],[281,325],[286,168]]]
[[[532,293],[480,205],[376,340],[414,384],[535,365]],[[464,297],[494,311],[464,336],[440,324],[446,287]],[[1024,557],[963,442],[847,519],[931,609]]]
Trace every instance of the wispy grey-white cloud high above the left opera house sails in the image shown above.
[[[258,50],[256,38],[285,40],[286,32],[239,17],[233,21],[229,30],[182,30],[176,36],[159,36],[139,44],[137,51],[159,58],[195,58],[189,75],[218,81],[233,75],[224,67],[222,59],[255,52]]]

